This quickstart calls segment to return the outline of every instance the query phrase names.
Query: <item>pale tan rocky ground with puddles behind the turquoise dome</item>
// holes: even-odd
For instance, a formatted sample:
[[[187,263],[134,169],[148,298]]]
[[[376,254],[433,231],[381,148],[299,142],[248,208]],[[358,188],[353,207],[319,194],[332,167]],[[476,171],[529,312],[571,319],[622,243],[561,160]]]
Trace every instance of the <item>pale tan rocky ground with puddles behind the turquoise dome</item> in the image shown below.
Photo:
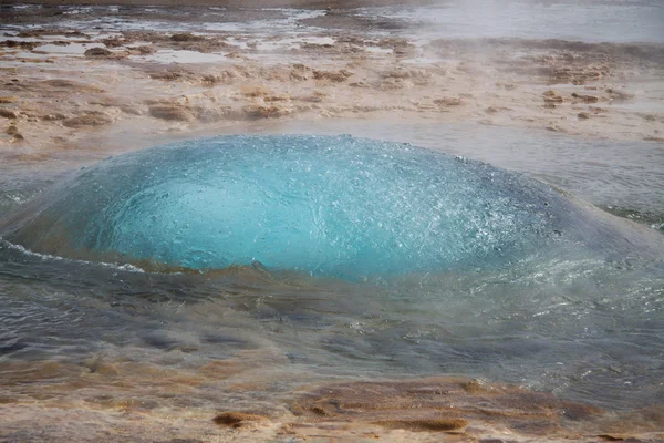
[[[409,40],[388,35],[398,22],[335,10],[301,19],[295,27],[315,30],[304,34],[81,30],[15,14],[3,17],[0,40],[3,155],[117,147],[100,144],[117,132],[151,144],[246,121],[324,119],[664,141],[658,44]]]

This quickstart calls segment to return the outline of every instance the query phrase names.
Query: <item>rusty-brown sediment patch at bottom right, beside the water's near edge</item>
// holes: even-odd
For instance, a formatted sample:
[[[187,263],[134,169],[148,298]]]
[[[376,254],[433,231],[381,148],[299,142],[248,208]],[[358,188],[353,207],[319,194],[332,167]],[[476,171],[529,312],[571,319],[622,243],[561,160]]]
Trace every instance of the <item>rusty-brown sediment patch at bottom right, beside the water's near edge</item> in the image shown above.
[[[416,432],[455,431],[466,437],[490,435],[489,429],[501,430],[515,441],[592,441],[589,434],[600,434],[601,430],[622,426],[625,434],[634,435],[655,431],[662,423],[655,411],[652,423],[645,424],[643,419],[639,423],[627,415],[619,418],[551,394],[463,378],[336,383],[297,399],[291,411],[317,423],[340,423],[338,426],[365,423]],[[291,424],[291,430],[297,426]],[[579,430],[587,435],[579,434]]]

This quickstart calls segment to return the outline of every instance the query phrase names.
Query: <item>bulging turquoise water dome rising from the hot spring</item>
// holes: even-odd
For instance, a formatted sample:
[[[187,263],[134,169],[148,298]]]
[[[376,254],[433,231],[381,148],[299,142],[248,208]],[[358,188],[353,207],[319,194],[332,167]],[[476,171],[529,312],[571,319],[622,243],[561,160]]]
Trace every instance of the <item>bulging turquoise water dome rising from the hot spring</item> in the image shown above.
[[[86,168],[8,237],[74,258],[386,277],[542,248],[568,206],[536,181],[407,144],[220,136]]]

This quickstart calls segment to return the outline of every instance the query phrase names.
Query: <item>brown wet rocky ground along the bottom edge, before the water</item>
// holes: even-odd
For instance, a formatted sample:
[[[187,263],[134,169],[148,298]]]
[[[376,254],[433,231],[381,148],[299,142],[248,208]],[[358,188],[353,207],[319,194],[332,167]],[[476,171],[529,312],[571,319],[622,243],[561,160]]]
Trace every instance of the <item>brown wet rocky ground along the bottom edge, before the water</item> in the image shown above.
[[[654,443],[664,437],[661,406],[608,412],[459,377],[319,383],[287,394],[276,391],[270,378],[238,381],[257,359],[245,352],[189,371],[103,359],[81,365],[4,363],[0,442]],[[201,408],[197,402],[212,387],[230,396],[235,392],[237,400]],[[248,405],[245,394],[251,391],[273,398]]]

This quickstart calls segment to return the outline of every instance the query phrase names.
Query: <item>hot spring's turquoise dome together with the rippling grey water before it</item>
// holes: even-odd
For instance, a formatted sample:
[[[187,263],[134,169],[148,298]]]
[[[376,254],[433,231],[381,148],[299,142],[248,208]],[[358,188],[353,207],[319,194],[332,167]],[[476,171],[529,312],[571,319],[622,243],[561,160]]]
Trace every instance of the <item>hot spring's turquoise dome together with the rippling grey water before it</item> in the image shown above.
[[[442,373],[606,408],[664,399],[662,235],[464,157],[186,141],[71,173],[0,234],[0,363],[42,377],[12,399],[252,408],[301,383]],[[249,369],[211,378],[228,359]]]

